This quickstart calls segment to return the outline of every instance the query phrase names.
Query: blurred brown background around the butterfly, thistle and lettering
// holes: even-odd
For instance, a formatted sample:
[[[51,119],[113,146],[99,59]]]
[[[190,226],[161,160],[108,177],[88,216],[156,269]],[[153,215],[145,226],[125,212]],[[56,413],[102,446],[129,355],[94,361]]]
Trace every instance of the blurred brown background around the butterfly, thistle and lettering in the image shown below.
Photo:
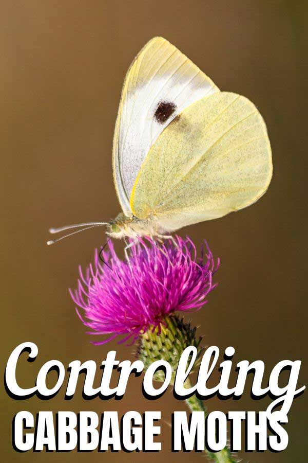
[[[307,3],[236,0],[89,0],[1,3],[3,221],[1,229],[4,370],[12,349],[35,342],[37,360],[21,362],[18,379],[30,387],[47,360],[99,364],[109,349],[120,359],[131,348],[94,347],[68,296],[79,263],[105,242],[97,228],[48,247],[50,226],[107,220],[119,212],[111,172],[113,126],[126,70],[153,36],[162,35],[203,69],[222,90],[252,99],[267,123],[274,177],[255,205],[181,230],[200,244],[206,237],[221,258],[219,287],[191,315],[207,345],[236,348],[235,362],[263,359],[267,375],[280,360],[303,360],[305,383],[307,237]],[[123,250],[123,243],[118,243]],[[266,376],[267,381],[267,376]],[[281,382],[283,384],[283,381]],[[122,401],[86,402],[81,388],[70,402],[65,388],[52,400],[14,401],[2,387],[2,461],[202,461],[172,454],[162,421],[157,454],[15,453],[11,421],[27,409],[162,410],[169,420],[185,404],[166,394],[147,401],[141,378]],[[249,390],[249,382],[247,384]],[[242,454],[244,461],[306,462],[306,407],[296,399],[289,414],[288,449]],[[268,400],[211,399],[210,410],[262,410]]]

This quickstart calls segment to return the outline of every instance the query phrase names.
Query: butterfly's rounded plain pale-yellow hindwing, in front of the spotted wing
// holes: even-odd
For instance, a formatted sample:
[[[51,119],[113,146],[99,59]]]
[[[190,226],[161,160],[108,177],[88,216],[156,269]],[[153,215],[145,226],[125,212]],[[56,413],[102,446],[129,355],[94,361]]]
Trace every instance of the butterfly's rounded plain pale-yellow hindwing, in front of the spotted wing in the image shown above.
[[[171,231],[254,203],[271,177],[260,113],[247,98],[219,92],[188,106],[160,134],[134,184],[131,209]]]

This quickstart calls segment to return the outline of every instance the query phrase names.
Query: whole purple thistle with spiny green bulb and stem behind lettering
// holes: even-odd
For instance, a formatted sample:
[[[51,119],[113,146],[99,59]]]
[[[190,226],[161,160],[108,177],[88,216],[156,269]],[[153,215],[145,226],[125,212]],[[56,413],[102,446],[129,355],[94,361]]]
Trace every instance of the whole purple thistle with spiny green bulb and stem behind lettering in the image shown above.
[[[205,253],[204,253],[205,251]],[[108,242],[107,251],[95,251],[94,265],[90,264],[83,273],[79,268],[78,288],[71,297],[85,312],[85,319],[77,313],[84,325],[91,328],[90,334],[111,334],[104,344],[119,335],[120,342],[139,339],[137,356],[145,369],[156,360],[164,359],[172,369],[174,382],[177,365],[187,346],[197,348],[196,367],[202,357],[201,337],[196,328],[175,315],[176,311],[198,310],[206,304],[206,296],[216,287],[212,277],[216,272],[206,242],[201,257],[191,239],[175,237],[158,245],[152,240],[139,239],[132,244],[128,261],[122,261],[115,254],[113,244]],[[154,379],[164,381],[164,372],[156,371]],[[190,386],[189,378],[185,384]],[[186,399],[191,411],[204,412],[203,402],[191,396]],[[220,452],[205,449],[209,460],[216,463],[236,463],[228,447]]]

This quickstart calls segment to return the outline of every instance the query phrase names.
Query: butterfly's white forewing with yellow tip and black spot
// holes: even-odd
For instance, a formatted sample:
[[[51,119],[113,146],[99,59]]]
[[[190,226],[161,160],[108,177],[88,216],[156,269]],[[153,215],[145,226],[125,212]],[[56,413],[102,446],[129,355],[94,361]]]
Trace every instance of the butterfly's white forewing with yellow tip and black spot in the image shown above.
[[[113,174],[123,211],[158,136],[190,104],[218,87],[167,40],[150,40],[126,75],[113,139]]]

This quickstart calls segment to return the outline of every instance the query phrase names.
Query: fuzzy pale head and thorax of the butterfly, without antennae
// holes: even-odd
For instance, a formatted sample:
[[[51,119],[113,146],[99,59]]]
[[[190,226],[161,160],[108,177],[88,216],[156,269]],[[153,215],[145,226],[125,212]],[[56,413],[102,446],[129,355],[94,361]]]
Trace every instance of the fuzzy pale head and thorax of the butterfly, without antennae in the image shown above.
[[[122,212],[109,222],[109,230],[106,232],[112,238],[137,238],[139,236],[158,236],[163,232],[154,218],[146,220],[138,217],[125,216]]]

